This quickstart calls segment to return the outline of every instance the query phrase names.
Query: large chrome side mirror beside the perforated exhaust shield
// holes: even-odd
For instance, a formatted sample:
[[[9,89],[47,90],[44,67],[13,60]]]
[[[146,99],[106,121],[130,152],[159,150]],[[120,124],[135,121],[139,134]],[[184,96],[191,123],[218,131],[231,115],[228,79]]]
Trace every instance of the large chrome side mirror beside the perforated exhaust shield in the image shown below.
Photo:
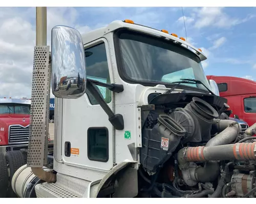
[[[52,29],[52,93],[58,98],[79,98],[86,92],[86,60],[81,34],[70,27]]]

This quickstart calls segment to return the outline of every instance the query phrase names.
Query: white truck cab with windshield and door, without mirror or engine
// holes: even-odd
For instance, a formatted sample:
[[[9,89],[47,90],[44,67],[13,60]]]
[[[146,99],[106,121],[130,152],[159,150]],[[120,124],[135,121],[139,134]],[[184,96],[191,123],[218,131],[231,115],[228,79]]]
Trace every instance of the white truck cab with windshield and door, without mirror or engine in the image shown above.
[[[200,50],[175,34],[131,22],[117,20],[82,35],[87,78],[123,86],[120,93],[97,86],[111,111],[123,116],[123,129],[113,128],[89,91],[75,100],[56,99],[55,159],[59,162],[54,168],[60,174],[69,172],[70,176],[94,181],[124,160],[138,165],[137,148],[142,146],[139,107],[150,103],[148,95],[168,91],[171,83],[181,78],[207,84],[200,63],[206,57]],[[180,86],[175,92],[207,92],[202,85],[192,85]]]

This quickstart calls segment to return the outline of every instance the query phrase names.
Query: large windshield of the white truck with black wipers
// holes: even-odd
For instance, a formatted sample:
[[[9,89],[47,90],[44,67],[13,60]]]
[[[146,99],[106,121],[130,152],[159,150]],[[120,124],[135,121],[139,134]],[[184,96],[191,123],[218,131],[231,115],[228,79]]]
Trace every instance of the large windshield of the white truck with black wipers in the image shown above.
[[[140,84],[150,82],[155,86],[186,78],[200,80],[210,88],[199,57],[186,48],[131,31],[121,31],[117,35],[120,65],[127,80]],[[207,91],[202,84],[181,85]]]

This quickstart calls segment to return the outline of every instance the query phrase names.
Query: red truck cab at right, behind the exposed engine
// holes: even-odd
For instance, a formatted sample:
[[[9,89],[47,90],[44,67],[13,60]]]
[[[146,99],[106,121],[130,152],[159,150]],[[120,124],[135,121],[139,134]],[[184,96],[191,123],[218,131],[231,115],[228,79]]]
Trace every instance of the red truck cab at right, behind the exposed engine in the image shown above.
[[[256,82],[238,77],[207,75],[219,88],[220,96],[228,101],[230,117],[243,119],[249,126],[256,122]]]

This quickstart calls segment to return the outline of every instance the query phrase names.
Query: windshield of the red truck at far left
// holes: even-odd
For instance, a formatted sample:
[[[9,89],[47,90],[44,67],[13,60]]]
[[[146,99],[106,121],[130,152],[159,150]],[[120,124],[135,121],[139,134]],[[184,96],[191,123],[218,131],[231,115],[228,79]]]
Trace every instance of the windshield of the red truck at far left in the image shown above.
[[[20,104],[1,104],[0,114],[30,114],[30,106]]]

